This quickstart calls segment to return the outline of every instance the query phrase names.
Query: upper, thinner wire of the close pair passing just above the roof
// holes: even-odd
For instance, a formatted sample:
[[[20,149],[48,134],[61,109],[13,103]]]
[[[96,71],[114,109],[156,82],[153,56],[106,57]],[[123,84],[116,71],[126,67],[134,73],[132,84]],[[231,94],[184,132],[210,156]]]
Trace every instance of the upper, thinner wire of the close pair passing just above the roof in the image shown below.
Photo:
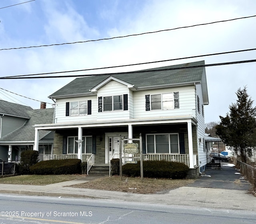
[[[127,65],[119,65],[119,66],[110,66],[110,67],[103,67],[103,68],[88,68],[88,69],[73,70],[73,71],[48,72],[48,73],[28,74],[28,75],[19,75],[19,76],[5,76],[5,77],[2,77],[2,78],[37,76],[37,75],[58,74],[58,73],[67,73],[67,72],[84,72],[84,71],[100,70],[100,69],[107,69],[107,68],[121,68],[121,67],[126,67],[126,66],[135,66],[135,65],[142,65],[142,64],[152,64],[152,63],[159,63],[159,62],[168,62],[168,61],[174,61],[174,60],[182,60],[182,59],[189,59],[189,58],[199,58],[199,57],[214,56],[214,55],[220,55],[220,54],[238,53],[238,52],[251,51],[251,50],[256,50],[256,48],[245,49],[245,50],[229,51],[229,52],[221,52],[221,53],[214,53],[214,54],[203,54],[203,55],[190,56],[190,57],[184,57],[184,58],[174,58],[174,59],[161,60],[161,61],[155,61],[155,62],[144,62],[144,63],[127,64]]]

